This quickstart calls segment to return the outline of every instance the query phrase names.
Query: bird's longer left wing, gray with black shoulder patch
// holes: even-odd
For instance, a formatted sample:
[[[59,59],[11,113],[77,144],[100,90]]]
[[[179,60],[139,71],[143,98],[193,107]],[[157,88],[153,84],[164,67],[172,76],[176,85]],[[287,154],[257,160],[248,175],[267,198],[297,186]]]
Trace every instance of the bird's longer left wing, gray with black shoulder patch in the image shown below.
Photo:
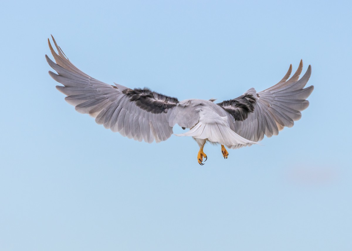
[[[47,62],[58,74],[49,71],[65,100],[75,106],[76,111],[95,117],[95,122],[105,128],[118,131],[134,140],[151,143],[164,141],[172,135],[169,125],[170,111],[178,103],[177,98],[168,97],[147,88],[130,89],[122,85],[100,82],[74,66],[52,38],[58,54],[49,48],[54,63],[47,55]]]

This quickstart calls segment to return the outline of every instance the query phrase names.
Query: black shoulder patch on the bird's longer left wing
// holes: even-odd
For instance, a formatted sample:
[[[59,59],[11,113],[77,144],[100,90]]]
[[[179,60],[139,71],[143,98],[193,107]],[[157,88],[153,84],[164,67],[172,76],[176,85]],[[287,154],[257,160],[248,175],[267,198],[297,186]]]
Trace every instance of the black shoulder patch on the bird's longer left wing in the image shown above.
[[[149,88],[135,88],[135,89],[124,89],[122,93],[127,95],[130,101],[141,109],[154,113],[160,114],[162,112],[168,112],[168,109],[175,107],[178,103],[177,98],[165,96],[155,91],[151,91]]]

